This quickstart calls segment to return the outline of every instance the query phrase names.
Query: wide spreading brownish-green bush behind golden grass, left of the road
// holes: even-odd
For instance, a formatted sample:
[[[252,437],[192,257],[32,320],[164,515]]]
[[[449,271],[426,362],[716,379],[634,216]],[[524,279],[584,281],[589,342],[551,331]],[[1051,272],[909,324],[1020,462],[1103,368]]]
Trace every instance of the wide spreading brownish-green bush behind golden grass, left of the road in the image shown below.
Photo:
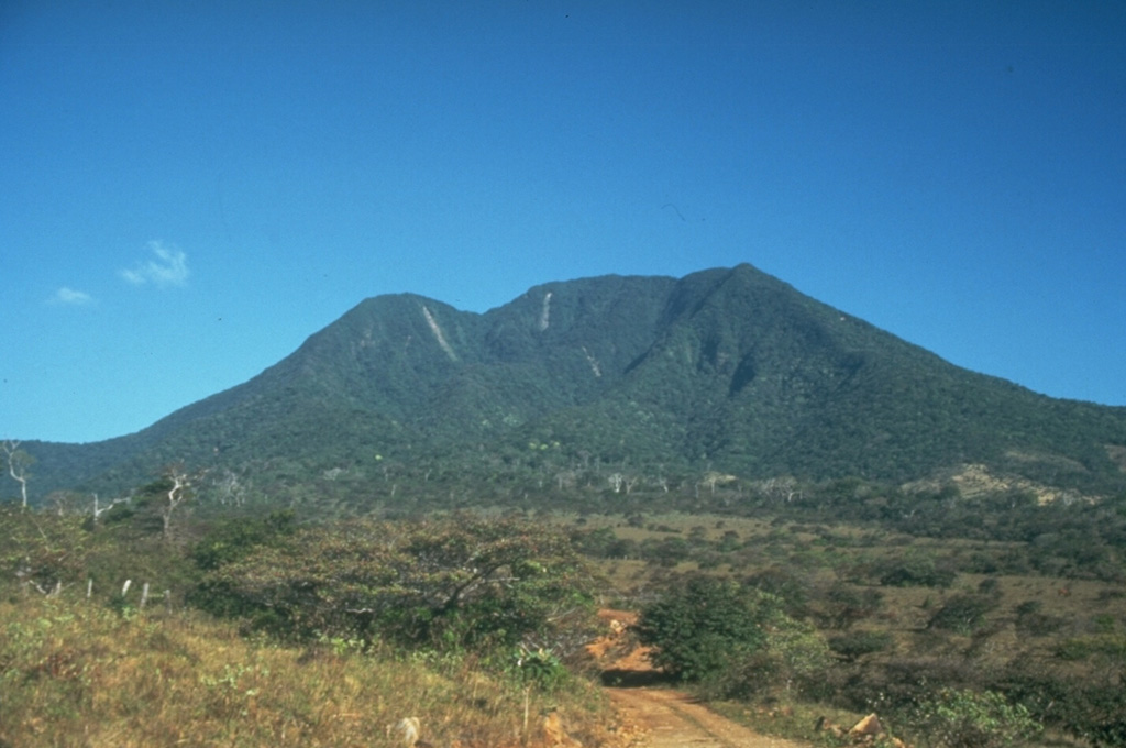
[[[200,604],[285,638],[441,649],[557,644],[582,630],[591,579],[568,538],[517,519],[356,520],[256,546]],[[573,641],[568,641],[573,645]]]

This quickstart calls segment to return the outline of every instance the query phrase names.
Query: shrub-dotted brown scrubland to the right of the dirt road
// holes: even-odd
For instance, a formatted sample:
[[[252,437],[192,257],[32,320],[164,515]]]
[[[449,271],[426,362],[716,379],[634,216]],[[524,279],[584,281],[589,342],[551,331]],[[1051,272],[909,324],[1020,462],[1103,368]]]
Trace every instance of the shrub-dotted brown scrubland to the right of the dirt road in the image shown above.
[[[760,730],[831,740],[820,716],[876,712],[913,745],[1126,745],[1126,585],[1109,564],[1060,577],[1027,562],[1036,543],[840,522],[577,522],[656,660]]]

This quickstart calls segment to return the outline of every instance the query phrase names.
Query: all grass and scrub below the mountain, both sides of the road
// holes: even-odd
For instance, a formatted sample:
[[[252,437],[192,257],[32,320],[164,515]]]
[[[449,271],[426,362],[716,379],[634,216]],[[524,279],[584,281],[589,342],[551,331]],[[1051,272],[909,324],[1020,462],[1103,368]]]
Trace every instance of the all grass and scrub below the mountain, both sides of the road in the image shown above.
[[[692,513],[611,487],[572,514],[349,517],[176,486],[0,510],[0,741],[390,745],[417,715],[503,746],[557,710],[604,745],[606,605],[760,729],[833,742],[817,716],[875,711],[912,745],[1126,745],[1121,497],[717,479]]]

